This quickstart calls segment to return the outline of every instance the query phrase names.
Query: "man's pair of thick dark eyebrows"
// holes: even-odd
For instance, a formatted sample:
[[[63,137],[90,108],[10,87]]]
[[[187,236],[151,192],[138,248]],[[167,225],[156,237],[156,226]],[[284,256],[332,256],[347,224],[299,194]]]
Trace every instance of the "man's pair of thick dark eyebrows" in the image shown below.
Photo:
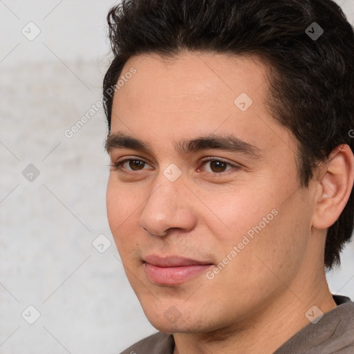
[[[109,153],[113,149],[133,149],[149,153],[152,151],[147,142],[129,136],[126,133],[111,133],[106,139],[106,151]],[[174,148],[181,154],[195,153],[209,149],[225,150],[230,152],[243,153],[250,158],[258,159],[263,156],[261,149],[245,142],[230,134],[216,135],[214,133],[207,136],[198,136],[191,140],[182,139],[174,143]]]

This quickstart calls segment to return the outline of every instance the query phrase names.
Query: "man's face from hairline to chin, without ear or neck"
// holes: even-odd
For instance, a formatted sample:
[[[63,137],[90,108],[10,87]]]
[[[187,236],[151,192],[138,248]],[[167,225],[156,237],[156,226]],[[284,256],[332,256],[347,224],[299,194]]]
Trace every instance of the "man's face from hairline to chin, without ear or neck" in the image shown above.
[[[266,109],[267,68],[185,53],[132,57],[132,70],[113,100],[106,194],[129,282],[165,333],[252,322],[299,277],[313,214],[295,140]]]

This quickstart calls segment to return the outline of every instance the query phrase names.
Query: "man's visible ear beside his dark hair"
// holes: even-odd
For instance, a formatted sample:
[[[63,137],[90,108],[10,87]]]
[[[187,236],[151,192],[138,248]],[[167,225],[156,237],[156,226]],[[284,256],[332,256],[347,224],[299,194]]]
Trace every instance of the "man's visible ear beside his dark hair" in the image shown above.
[[[313,227],[326,229],[342,213],[353,188],[354,156],[348,145],[339,145],[319,168]]]

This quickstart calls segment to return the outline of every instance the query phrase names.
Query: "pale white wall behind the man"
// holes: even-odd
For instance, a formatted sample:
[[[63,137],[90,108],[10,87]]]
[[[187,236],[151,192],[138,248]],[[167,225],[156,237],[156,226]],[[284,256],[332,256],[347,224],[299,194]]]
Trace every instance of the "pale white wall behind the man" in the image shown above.
[[[156,332],[106,221],[103,110],[64,136],[100,100],[115,2],[0,0],[1,354],[113,354]],[[338,3],[353,24],[354,1]],[[21,33],[30,21],[41,30],[33,41]],[[111,241],[103,254],[99,234]],[[328,281],[354,299],[353,243]],[[29,305],[41,314],[32,325],[21,317]]]

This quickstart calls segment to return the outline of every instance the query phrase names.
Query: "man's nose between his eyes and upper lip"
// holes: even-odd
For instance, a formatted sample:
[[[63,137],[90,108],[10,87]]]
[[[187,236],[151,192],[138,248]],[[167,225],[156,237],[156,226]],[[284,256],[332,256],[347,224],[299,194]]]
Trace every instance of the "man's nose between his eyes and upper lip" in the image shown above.
[[[155,236],[166,236],[171,229],[193,230],[196,225],[193,194],[182,178],[171,182],[162,175],[156,182],[142,209],[140,226]],[[189,198],[188,194],[191,194]]]

